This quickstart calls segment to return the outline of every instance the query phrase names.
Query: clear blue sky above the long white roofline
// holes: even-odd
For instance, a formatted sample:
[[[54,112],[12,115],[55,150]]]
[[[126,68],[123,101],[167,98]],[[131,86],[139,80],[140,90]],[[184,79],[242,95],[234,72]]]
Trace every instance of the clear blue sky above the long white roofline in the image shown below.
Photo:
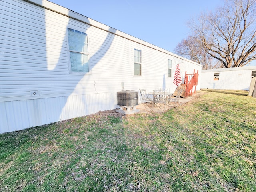
[[[50,0],[93,20],[173,52],[186,22],[224,0]]]

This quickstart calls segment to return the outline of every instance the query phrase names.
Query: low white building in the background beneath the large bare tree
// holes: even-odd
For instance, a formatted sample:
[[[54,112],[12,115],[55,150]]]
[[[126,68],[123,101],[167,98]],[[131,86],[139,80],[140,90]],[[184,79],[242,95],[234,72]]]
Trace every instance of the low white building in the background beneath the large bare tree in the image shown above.
[[[249,90],[256,66],[202,70],[202,89]]]

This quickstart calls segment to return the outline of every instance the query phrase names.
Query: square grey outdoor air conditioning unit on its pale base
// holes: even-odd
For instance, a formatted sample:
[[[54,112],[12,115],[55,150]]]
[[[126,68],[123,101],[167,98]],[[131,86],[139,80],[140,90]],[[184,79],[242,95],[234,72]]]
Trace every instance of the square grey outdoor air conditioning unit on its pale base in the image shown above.
[[[121,110],[117,110],[117,112],[131,114],[134,112],[138,112],[136,110],[136,106],[138,105],[138,91],[135,90],[122,90],[117,92],[117,105],[120,106]],[[130,108],[133,108],[131,111]],[[125,111],[123,108],[126,108]]]

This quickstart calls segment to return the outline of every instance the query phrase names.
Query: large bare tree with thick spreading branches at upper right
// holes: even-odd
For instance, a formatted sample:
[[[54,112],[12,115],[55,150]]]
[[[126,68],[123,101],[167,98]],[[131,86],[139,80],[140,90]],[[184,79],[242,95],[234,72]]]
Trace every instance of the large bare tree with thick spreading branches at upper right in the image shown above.
[[[216,12],[191,21],[193,38],[226,68],[256,59],[256,0],[226,0]]]

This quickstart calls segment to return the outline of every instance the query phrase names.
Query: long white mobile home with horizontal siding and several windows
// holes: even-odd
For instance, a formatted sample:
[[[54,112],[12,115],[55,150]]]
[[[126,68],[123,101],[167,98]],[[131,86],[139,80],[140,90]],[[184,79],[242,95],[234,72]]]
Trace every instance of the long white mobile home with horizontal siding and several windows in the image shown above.
[[[0,9],[0,133],[118,108],[122,82],[126,90],[174,90],[178,63],[182,74],[201,72],[46,0],[0,0]]]

